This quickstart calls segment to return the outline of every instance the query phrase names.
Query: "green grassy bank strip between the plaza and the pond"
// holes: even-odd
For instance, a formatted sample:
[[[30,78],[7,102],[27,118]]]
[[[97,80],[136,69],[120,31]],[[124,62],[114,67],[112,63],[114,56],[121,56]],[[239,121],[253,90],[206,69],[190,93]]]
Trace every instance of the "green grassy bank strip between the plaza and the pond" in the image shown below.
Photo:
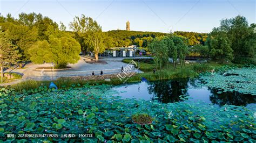
[[[129,63],[132,59],[124,59],[125,63]],[[168,63],[168,66],[163,67],[163,69],[157,70],[156,73],[153,73],[153,69],[155,68],[153,59],[133,59],[136,62],[137,68],[144,71],[144,73],[138,73],[135,76],[127,78],[126,82],[139,82],[142,77],[145,77],[148,81],[157,81],[157,80],[172,80],[175,78],[193,78],[198,77],[198,75],[202,72],[210,71],[212,69],[217,70],[224,66],[224,64],[220,64],[213,61],[208,61],[207,63],[190,63],[185,67],[181,68],[177,66],[174,69],[172,63]],[[234,66],[233,63],[227,63],[229,66]],[[138,67],[139,66],[139,67]],[[242,65],[240,65],[242,67]],[[105,80],[57,80],[54,81],[58,88],[68,88],[68,87],[76,87],[77,85],[97,85],[97,84],[110,84],[110,85],[118,85],[124,83],[119,78],[111,78],[110,81]],[[12,85],[10,88],[14,88],[16,91],[23,92],[24,90],[36,89],[39,87],[48,86],[50,81],[24,81],[18,83],[16,85]]]

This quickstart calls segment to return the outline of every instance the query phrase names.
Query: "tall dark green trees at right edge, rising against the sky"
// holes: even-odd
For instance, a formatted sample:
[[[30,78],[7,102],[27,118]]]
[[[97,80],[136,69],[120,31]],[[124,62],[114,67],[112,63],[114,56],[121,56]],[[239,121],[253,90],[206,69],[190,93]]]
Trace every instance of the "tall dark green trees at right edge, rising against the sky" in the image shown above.
[[[207,38],[209,55],[216,60],[255,63],[255,24],[248,25],[243,16],[223,19],[219,27],[214,27]]]

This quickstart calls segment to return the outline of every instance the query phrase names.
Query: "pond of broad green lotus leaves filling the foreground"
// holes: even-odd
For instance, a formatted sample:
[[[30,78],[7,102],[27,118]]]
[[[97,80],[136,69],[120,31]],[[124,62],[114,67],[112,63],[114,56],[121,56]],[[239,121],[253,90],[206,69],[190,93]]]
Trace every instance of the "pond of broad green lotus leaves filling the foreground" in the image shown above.
[[[207,76],[207,75],[202,75]],[[211,75],[210,75],[211,76]],[[59,90],[39,87],[16,93],[0,92],[0,141],[6,142],[234,142],[256,141],[256,109],[251,99],[243,94],[239,101],[244,106],[228,105],[218,97],[215,104],[191,101],[191,80],[166,81],[165,92],[175,98],[158,94],[166,87],[156,83],[140,83],[139,90],[155,94],[150,99],[115,96],[125,92],[113,90],[111,85],[73,85]],[[174,84],[175,83],[175,84]],[[184,85],[183,85],[184,83]],[[207,82],[198,83],[204,88]],[[132,84],[131,86],[133,86]],[[135,84],[137,86],[137,84]],[[173,87],[180,86],[177,91]],[[148,88],[152,86],[152,88]],[[209,86],[210,87],[210,86]],[[125,87],[123,87],[125,88]],[[126,87],[126,89],[129,87]],[[199,87],[200,88],[200,87]],[[132,89],[135,90],[135,89]],[[138,89],[136,89],[138,90]],[[193,90],[197,90],[196,88]],[[208,91],[209,89],[206,88]],[[214,91],[216,90],[216,91]],[[223,90],[221,90],[223,91]],[[239,90],[240,91],[240,90]],[[219,92],[214,88],[213,92]],[[126,92],[127,94],[128,92]],[[163,93],[163,92],[161,92]],[[187,95],[188,93],[188,95]],[[225,93],[225,92],[224,92]],[[226,91],[228,93],[228,91]],[[161,95],[161,96],[159,96]],[[181,96],[182,95],[182,96]],[[217,94],[218,95],[218,94]],[[221,93],[221,95],[223,95]],[[196,96],[196,95],[195,95]],[[200,95],[203,96],[203,95]],[[225,96],[225,95],[223,95]],[[252,98],[255,95],[252,95]],[[208,98],[209,96],[207,96]],[[239,96],[235,97],[238,98]],[[220,99],[219,99],[220,98]],[[226,97],[224,97],[226,98]],[[253,98],[255,101],[255,98]],[[221,101],[221,102],[220,102]],[[223,103],[222,103],[223,102]],[[249,104],[249,105],[248,105]],[[239,104],[238,104],[239,105]],[[247,105],[245,107],[245,105]],[[147,113],[153,122],[139,125],[132,115]],[[7,134],[93,134],[90,138],[7,138]],[[60,137],[60,135],[59,135]]]

